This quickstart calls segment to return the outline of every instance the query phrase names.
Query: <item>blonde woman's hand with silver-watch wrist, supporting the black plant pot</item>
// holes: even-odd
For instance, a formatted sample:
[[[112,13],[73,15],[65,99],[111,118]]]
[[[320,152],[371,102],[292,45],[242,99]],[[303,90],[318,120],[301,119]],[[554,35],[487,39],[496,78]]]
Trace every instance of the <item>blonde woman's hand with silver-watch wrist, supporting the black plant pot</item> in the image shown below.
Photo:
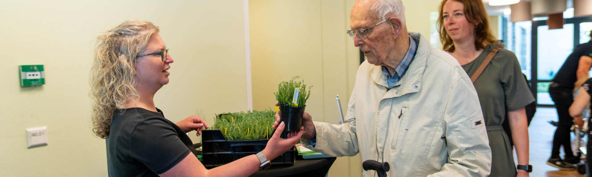
[[[269,139],[267,142],[267,146],[263,149],[263,155],[269,161],[274,160],[275,157],[282,155],[282,153],[287,152],[289,149],[292,149],[294,145],[300,140],[302,136],[303,128],[300,127],[300,131],[293,131],[288,134],[288,139],[282,139],[281,136],[282,132],[284,132],[285,123],[282,122],[278,125],[275,129],[274,135]]]

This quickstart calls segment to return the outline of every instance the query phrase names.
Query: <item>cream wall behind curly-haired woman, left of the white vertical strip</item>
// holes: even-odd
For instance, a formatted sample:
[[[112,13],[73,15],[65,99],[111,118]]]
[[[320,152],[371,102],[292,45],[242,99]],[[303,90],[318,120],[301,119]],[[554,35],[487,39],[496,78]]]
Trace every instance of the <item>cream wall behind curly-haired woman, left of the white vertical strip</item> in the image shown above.
[[[105,141],[89,123],[94,38],[125,20],[155,22],[175,60],[155,96],[172,121],[247,109],[242,1],[0,1],[0,176],[107,176]],[[44,65],[46,85],[19,85]],[[49,145],[27,149],[25,128]],[[192,139],[197,140],[195,135]]]

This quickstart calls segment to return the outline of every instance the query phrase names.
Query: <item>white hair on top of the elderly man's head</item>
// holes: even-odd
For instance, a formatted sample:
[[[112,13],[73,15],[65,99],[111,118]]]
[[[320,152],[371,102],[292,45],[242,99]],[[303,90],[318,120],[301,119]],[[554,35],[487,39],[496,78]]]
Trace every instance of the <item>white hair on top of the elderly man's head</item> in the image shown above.
[[[405,5],[401,0],[378,0],[370,8],[377,12],[377,20],[387,20],[392,15],[401,20],[401,24],[405,25]]]

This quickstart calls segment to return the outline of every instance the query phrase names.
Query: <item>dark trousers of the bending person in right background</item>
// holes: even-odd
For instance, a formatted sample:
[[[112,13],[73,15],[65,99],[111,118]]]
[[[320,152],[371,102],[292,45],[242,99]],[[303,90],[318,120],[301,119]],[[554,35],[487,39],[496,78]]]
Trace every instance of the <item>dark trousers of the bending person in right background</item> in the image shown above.
[[[555,136],[553,137],[553,148],[551,149],[551,158],[559,157],[559,148],[563,146],[565,157],[574,157],[574,153],[571,151],[571,125],[574,124],[570,116],[570,106],[574,102],[573,91],[565,86],[560,86],[557,83],[551,82],[549,86],[549,95],[555,102],[555,108],[557,109],[557,115],[559,116],[559,124],[557,130],[555,130]]]

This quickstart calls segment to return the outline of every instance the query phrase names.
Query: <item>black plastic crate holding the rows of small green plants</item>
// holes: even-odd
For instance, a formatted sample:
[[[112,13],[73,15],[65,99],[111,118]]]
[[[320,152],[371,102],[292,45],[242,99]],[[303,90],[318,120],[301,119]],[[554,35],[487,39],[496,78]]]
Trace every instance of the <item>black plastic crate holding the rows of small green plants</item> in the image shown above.
[[[265,149],[268,139],[258,140],[226,140],[220,130],[203,130],[201,132],[202,162],[206,168],[214,168],[234,160],[255,155]],[[294,165],[295,150],[292,148],[271,160],[272,165]]]

